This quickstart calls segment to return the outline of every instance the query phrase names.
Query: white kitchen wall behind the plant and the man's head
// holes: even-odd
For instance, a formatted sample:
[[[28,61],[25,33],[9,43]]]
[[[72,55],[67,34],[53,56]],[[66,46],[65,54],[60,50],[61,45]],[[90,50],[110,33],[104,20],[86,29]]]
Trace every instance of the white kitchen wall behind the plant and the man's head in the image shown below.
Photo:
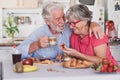
[[[20,30],[19,34],[15,34],[15,37],[27,37],[31,32],[36,30],[38,27],[44,24],[44,20],[41,16],[41,10],[43,3],[48,1],[57,1],[60,2],[63,7],[65,8],[65,11],[69,8],[69,0],[39,0],[39,7],[36,9],[2,9],[3,13],[3,22],[6,22],[6,19],[8,17],[8,13],[14,13],[14,16],[29,16],[31,18],[31,24],[19,24],[18,28]],[[0,18],[0,19],[2,19]],[[2,21],[0,21],[2,22]],[[2,24],[2,23],[0,23]],[[1,35],[0,37],[7,37],[7,34],[5,32],[5,29],[0,26]]]

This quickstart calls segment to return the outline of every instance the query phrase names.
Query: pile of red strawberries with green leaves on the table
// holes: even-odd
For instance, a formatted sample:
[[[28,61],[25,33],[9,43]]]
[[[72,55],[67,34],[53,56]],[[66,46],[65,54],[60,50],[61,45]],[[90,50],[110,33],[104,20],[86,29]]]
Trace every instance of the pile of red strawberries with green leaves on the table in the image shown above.
[[[118,70],[118,65],[114,65],[114,63],[108,59],[103,59],[99,62],[99,64],[93,64],[92,68],[98,72],[116,72]]]

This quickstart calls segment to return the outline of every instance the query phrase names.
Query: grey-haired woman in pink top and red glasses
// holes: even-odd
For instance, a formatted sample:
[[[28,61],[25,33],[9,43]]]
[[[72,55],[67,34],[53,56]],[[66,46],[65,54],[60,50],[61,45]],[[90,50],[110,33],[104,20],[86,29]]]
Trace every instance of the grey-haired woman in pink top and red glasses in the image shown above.
[[[89,37],[92,12],[85,5],[71,6],[66,18],[73,32],[70,38],[72,48],[66,47],[64,53],[93,63],[108,58],[117,64],[111,55],[106,35],[103,39],[96,39],[94,34]]]

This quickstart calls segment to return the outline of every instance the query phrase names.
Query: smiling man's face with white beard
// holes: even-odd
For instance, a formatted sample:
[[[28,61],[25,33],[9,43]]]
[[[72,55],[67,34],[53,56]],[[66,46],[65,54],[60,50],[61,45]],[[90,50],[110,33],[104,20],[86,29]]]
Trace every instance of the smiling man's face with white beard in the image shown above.
[[[51,11],[51,28],[52,30],[55,30],[56,32],[62,32],[64,30],[64,11],[62,9],[56,9]]]

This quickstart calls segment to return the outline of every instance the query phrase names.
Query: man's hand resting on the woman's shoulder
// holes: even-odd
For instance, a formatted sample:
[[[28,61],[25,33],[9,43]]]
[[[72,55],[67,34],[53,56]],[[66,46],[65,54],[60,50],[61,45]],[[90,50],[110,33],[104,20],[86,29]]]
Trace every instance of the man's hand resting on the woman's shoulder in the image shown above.
[[[91,33],[94,33],[95,37],[97,39],[102,39],[104,36],[104,30],[103,28],[97,24],[96,22],[92,22],[90,25],[89,35],[91,36]]]

